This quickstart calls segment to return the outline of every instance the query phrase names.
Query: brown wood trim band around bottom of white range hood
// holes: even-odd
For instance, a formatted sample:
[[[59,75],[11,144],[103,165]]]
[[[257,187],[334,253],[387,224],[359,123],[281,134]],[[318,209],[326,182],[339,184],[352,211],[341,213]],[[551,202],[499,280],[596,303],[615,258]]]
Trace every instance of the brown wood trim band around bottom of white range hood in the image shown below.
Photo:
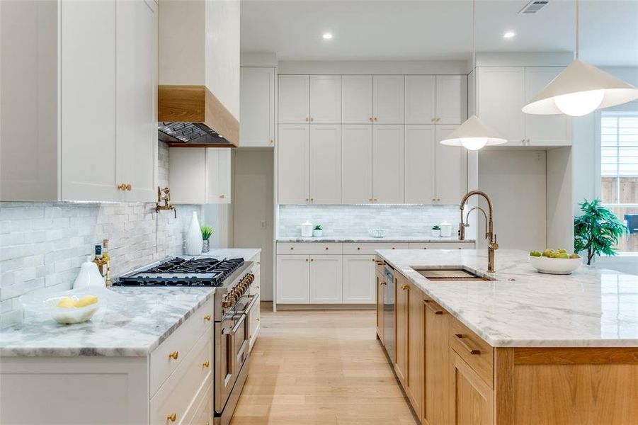
[[[239,147],[239,121],[206,86],[157,86],[157,120],[203,123],[232,145],[171,144],[175,147]]]

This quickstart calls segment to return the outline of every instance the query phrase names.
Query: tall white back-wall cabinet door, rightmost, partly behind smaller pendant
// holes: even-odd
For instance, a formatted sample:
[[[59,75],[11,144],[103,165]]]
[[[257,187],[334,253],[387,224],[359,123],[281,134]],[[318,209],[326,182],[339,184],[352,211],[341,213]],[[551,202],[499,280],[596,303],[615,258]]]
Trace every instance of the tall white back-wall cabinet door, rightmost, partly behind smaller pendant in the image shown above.
[[[435,181],[436,203],[439,205],[458,205],[467,193],[467,150],[439,143],[457,128],[458,125],[436,126]]]

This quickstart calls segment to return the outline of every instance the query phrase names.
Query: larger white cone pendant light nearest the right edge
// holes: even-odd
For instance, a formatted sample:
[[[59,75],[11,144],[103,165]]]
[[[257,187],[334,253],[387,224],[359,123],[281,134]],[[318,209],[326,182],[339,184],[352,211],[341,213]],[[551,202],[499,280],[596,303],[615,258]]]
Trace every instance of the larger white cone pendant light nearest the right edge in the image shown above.
[[[587,115],[638,99],[638,89],[579,59],[580,1],[576,0],[576,60],[523,106],[533,115]]]

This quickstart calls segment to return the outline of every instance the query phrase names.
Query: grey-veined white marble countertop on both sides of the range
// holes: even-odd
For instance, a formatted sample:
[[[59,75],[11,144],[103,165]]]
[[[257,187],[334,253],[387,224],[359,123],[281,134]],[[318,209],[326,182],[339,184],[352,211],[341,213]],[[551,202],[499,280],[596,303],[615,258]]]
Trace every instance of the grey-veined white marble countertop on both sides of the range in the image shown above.
[[[211,249],[203,256],[251,261],[260,252]],[[0,356],[147,356],[215,293],[203,287],[111,289],[125,301],[101,309],[89,322],[62,325],[27,314],[23,323],[0,329]]]

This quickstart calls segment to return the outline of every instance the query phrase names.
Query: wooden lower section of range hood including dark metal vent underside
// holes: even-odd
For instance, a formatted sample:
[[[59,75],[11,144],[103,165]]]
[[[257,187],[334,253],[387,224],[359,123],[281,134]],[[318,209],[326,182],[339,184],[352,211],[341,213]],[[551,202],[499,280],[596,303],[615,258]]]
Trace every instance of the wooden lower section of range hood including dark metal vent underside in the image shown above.
[[[159,140],[179,147],[238,147],[239,121],[206,86],[157,90]]]

